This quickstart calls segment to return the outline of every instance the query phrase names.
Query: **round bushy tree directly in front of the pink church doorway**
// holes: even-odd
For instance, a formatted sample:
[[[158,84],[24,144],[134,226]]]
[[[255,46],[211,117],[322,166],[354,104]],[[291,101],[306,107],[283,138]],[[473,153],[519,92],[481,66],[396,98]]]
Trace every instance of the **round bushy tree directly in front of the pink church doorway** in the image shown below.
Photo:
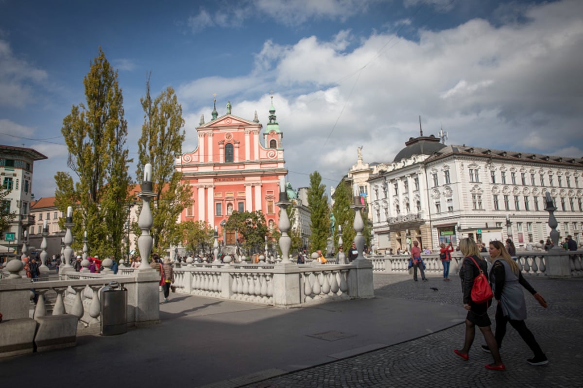
[[[233,211],[224,227],[227,230],[235,230],[243,239],[241,247],[247,251],[247,254],[264,251],[267,224],[261,210]]]

